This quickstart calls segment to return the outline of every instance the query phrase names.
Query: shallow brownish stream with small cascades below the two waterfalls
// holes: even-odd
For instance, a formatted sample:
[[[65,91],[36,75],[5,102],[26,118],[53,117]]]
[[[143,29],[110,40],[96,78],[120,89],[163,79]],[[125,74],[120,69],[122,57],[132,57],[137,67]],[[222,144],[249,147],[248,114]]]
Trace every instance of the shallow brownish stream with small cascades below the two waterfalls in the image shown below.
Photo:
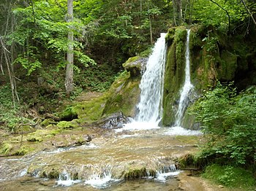
[[[176,132],[176,133],[174,133]],[[83,132],[81,132],[83,133]],[[3,190],[178,190],[178,157],[197,150],[200,132],[104,130],[89,144],[0,157]],[[57,174],[56,179],[40,178]]]

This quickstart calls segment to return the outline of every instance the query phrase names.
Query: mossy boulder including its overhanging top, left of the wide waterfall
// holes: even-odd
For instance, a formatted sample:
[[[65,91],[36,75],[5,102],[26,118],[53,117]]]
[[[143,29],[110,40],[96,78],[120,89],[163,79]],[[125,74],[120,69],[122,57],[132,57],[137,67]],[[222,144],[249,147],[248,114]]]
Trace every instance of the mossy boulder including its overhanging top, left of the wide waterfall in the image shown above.
[[[135,116],[136,104],[140,98],[140,71],[145,62],[146,58],[135,57],[124,63],[128,71],[124,71],[110,87],[102,116],[117,112],[122,112],[127,117]]]

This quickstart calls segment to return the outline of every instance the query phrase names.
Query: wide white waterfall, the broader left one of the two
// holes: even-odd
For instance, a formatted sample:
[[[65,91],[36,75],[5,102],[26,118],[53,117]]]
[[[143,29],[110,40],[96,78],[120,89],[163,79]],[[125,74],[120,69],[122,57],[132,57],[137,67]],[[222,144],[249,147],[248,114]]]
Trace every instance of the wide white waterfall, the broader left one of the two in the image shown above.
[[[137,122],[157,123],[162,117],[162,95],[165,72],[166,34],[162,33],[146,64],[140,81],[140,103],[137,105]],[[156,124],[156,125],[157,125]]]

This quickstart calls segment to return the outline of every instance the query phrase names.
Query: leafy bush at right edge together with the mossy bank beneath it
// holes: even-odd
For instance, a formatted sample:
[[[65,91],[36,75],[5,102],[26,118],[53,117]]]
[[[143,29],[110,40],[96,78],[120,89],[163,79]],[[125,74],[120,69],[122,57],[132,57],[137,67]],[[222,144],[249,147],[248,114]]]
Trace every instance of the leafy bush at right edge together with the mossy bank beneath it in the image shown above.
[[[206,168],[204,177],[227,187],[255,187],[255,98],[255,86],[237,93],[233,84],[219,83],[206,91],[189,110],[200,122],[207,142],[200,154],[182,163]]]

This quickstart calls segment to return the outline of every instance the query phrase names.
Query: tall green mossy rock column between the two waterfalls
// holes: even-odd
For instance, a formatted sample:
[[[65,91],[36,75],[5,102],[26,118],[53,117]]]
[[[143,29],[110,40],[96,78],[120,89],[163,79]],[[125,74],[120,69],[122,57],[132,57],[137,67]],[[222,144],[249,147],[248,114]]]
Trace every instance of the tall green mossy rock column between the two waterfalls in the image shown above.
[[[165,65],[165,85],[163,98],[163,125],[173,125],[179,90],[184,82],[185,44],[187,31],[184,27],[170,28],[167,36],[167,63]]]

